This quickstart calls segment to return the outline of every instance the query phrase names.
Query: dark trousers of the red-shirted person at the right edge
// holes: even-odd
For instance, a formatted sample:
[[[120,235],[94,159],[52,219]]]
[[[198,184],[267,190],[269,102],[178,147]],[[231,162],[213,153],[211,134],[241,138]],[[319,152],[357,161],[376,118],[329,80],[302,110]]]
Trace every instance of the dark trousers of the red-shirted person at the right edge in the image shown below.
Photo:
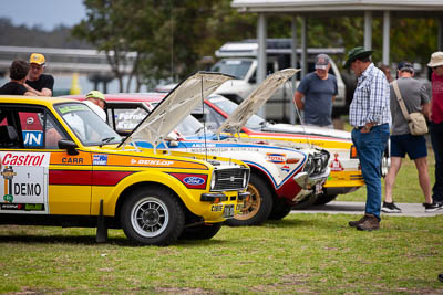
[[[443,123],[430,124],[432,149],[435,155],[435,183],[432,188],[432,199],[443,201]]]

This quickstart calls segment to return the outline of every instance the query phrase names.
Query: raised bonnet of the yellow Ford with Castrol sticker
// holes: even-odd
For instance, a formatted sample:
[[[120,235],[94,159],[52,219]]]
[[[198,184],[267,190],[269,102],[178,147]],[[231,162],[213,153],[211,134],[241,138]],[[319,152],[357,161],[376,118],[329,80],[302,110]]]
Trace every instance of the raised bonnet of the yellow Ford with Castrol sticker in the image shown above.
[[[203,101],[233,78],[222,73],[198,72],[179,83],[121,144],[143,139],[156,147]]]

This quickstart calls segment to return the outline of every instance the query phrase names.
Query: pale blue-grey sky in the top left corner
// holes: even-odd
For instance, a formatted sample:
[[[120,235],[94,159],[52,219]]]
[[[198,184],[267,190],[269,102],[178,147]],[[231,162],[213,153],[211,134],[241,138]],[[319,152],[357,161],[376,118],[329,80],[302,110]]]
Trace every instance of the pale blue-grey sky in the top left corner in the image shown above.
[[[59,24],[72,27],[86,17],[83,0],[1,0],[0,17],[16,25],[51,31]]]

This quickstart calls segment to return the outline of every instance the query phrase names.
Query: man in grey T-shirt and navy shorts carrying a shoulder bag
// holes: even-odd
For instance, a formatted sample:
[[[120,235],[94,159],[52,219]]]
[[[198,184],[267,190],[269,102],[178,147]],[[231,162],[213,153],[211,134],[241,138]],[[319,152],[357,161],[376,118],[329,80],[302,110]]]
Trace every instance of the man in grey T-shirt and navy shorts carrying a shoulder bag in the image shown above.
[[[430,114],[430,99],[426,94],[425,86],[413,78],[414,67],[410,62],[400,62],[398,67],[398,84],[401,98],[403,99],[408,113],[420,112],[425,116]],[[401,209],[395,206],[392,200],[392,188],[395,177],[400,170],[402,158],[408,154],[411,160],[414,160],[419,172],[419,183],[423,191],[425,202],[424,211],[433,212],[442,207],[433,203],[431,197],[431,183],[427,172],[427,147],[424,136],[411,135],[408,122],[400,108],[399,97],[395,94],[393,84],[390,85],[391,91],[391,167],[384,179],[384,202],[381,211],[387,213],[398,213]]]

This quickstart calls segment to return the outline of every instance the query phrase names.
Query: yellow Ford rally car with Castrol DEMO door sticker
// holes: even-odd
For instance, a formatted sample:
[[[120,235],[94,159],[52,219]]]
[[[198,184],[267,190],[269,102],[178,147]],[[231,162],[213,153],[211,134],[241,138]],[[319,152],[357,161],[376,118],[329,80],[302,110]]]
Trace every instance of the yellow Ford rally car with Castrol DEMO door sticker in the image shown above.
[[[224,81],[187,80],[203,92]],[[153,120],[158,140],[169,133],[161,122]],[[66,98],[0,97],[0,171],[1,224],[97,226],[97,241],[107,228],[141,244],[210,239],[248,198],[241,161],[134,147]]]

